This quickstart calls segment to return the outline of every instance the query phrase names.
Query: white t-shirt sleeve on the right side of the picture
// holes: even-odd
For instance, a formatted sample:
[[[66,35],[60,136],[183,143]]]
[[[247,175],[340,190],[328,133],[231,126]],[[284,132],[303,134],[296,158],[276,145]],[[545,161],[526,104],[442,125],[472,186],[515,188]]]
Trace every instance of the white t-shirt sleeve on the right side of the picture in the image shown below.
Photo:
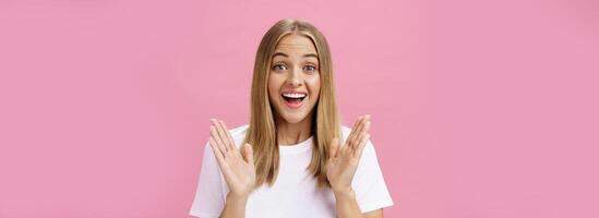
[[[379,166],[376,152],[370,140],[367,141],[362,157],[360,157],[351,186],[356,192],[356,201],[362,213],[393,206],[393,199]]]

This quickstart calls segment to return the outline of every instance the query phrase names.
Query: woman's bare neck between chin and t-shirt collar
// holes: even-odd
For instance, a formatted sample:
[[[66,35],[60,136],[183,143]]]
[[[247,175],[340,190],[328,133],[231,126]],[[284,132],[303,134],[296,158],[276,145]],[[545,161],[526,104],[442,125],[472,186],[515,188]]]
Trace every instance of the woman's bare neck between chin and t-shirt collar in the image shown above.
[[[275,118],[277,141],[279,145],[295,145],[308,140],[312,133],[312,113],[297,123],[289,123],[284,118]]]

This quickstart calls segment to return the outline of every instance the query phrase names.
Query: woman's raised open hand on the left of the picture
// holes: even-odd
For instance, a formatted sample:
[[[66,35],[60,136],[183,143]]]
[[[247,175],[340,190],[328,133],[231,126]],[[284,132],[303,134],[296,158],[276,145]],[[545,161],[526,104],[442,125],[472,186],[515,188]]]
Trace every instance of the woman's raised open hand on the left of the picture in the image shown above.
[[[241,155],[225,122],[215,119],[211,119],[209,144],[229,186],[229,195],[247,198],[255,185],[252,146],[245,143]]]

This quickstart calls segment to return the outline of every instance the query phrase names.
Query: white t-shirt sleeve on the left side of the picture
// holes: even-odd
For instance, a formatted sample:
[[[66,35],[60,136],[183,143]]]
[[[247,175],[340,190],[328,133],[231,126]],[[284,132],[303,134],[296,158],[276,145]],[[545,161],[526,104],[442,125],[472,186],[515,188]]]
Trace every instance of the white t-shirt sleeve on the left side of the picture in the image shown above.
[[[202,170],[190,215],[201,218],[218,217],[225,207],[221,173],[209,144],[204,148]]]

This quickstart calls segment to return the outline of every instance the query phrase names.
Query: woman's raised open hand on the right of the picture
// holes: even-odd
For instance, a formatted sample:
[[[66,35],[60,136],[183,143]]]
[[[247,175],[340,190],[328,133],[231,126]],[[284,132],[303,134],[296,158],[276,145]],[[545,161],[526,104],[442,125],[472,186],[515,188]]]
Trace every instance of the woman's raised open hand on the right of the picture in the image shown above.
[[[351,191],[351,180],[354,180],[362,150],[370,137],[369,130],[370,116],[362,116],[354,124],[343,147],[339,148],[339,138],[333,138],[326,164],[326,177],[333,192]]]

